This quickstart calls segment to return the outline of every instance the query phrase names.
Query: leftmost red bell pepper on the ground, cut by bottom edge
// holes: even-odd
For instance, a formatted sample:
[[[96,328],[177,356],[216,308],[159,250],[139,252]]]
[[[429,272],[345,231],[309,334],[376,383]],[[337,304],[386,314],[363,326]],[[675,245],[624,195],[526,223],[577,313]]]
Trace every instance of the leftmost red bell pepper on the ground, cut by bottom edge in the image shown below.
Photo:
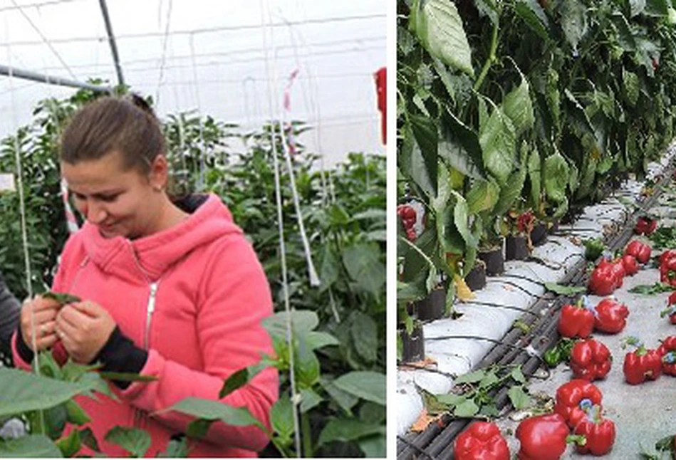
[[[474,422],[455,438],[456,460],[509,460],[509,446],[494,423]]]

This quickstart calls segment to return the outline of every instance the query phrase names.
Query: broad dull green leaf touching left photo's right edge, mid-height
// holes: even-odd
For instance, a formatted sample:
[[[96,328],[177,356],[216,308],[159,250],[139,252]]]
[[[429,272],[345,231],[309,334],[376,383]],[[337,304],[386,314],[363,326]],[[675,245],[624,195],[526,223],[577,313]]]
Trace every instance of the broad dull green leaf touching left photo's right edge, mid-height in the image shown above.
[[[385,295],[385,263],[375,243],[358,243],[343,250],[343,263],[350,278],[376,298]]]

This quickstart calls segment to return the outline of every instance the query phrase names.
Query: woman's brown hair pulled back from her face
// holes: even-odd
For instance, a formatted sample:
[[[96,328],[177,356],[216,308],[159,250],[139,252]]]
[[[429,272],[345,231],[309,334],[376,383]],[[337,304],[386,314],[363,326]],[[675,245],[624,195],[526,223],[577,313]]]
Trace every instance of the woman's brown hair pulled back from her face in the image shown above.
[[[61,160],[76,164],[118,151],[125,169],[149,173],[155,157],[165,153],[165,137],[145,100],[127,98],[99,98],[78,110],[61,136]]]

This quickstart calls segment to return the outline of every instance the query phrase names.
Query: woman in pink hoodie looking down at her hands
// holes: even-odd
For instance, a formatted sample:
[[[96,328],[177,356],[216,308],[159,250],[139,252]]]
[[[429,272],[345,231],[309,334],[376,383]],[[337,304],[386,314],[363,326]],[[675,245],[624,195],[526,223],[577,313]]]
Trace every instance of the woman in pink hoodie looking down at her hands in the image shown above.
[[[216,401],[232,372],[272,352],[261,326],[272,313],[271,295],[251,245],[216,195],[172,202],[163,152],[147,107],[102,98],[74,115],[61,140],[61,172],[86,222],[63,249],[53,291],[83,301],[59,308],[35,298],[24,305],[14,338],[23,367],[33,350],[53,346],[55,356],[157,377],[112,382],[119,402],[77,398],[109,456],[125,455],[104,441],[117,425],[150,432],[147,455],[155,456],[192,418],[149,414],[185,397]],[[270,427],[278,385],[269,368],[222,402],[248,408]],[[190,455],[256,456],[267,441],[259,428],[218,422],[191,442]]]

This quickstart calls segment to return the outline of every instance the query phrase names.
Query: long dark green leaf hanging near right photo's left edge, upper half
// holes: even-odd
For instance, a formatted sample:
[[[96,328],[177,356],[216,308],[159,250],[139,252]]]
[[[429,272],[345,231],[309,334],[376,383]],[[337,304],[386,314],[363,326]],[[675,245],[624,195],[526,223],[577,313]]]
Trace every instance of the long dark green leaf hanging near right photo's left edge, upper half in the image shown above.
[[[411,154],[412,179],[430,197],[437,194],[437,145],[439,135],[437,125],[429,117],[409,115],[411,132],[415,138]]]

